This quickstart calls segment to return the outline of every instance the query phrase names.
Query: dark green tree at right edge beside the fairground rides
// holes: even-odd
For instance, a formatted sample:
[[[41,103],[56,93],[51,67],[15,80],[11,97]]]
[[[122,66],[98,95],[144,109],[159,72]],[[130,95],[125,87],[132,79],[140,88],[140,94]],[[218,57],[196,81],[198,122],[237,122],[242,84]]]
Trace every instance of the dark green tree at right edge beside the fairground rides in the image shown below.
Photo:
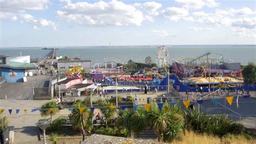
[[[256,82],[256,65],[254,63],[248,63],[242,69],[242,76],[244,77],[245,84],[255,84]]]

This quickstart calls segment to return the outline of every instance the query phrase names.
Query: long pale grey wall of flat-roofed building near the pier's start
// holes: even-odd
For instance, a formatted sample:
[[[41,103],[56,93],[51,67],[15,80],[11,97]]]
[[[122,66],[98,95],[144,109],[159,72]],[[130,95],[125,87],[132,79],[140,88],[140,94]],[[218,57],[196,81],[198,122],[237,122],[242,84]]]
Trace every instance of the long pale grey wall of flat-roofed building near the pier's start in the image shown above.
[[[91,68],[91,61],[86,62],[66,62],[66,63],[58,63],[58,70],[68,70],[70,69],[70,66],[82,66],[84,69],[90,69]],[[65,68],[64,68],[65,67]]]

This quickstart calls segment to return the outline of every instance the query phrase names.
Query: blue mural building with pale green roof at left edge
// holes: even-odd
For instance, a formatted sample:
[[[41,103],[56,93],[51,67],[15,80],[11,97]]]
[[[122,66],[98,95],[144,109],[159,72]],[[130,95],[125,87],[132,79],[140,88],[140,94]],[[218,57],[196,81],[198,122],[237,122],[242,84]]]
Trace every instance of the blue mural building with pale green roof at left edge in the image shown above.
[[[23,82],[24,73],[34,69],[35,64],[10,61],[10,57],[0,55],[0,73],[7,83]]]

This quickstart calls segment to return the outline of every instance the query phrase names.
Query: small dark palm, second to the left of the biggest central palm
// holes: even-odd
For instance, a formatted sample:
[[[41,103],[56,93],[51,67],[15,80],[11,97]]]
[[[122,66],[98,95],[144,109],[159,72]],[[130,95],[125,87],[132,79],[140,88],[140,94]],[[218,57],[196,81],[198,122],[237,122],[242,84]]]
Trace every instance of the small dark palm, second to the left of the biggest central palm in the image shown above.
[[[124,111],[119,111],[118,113],[118,125],[125,128],[129,134],[131,134],[132,127],[132,115],[134,114],[133,109],[126,108]]]

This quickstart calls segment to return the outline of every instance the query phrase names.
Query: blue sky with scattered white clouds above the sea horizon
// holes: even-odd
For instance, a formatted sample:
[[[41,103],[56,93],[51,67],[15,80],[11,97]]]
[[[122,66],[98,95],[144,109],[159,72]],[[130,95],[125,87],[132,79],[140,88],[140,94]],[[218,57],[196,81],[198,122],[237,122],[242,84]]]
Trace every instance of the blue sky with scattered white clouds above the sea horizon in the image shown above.
[[[0,47],[256,44],[253,0],[0,0]]]

